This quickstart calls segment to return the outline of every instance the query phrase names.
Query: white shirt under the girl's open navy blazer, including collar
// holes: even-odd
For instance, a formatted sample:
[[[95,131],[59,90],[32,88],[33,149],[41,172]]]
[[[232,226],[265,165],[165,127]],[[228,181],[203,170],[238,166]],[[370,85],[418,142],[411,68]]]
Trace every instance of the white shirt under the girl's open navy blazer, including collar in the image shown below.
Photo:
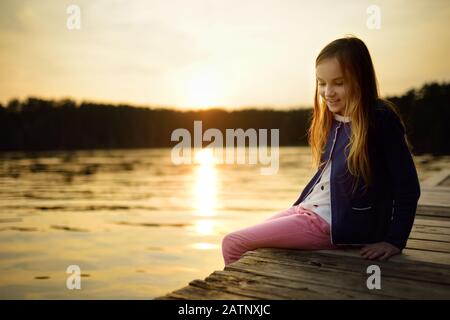
[[[334,118],[340,122],[349,122],[350,117],[344,117],[334,114]],[[311,193],[301,202],[299,206],[309,209],[317,213],[328,224],[331,225],[331,197],[330,197],[330,176],[331,176],[330,159],[326,164],[322,176],[316,182]]]

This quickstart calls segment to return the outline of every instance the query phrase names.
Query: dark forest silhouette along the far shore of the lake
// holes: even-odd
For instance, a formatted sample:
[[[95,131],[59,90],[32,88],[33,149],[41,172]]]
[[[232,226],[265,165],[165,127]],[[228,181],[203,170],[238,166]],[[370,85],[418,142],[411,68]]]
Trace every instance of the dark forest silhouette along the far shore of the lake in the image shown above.
[[[407,127],[414,154],[450,154],[450,83],[425,84],[394,102]],[[171,147],[177,128],[279,129],[280,146],[307,145],[312,109],[288,111],[209,109],[177,111],[72,100],[28,98],[0,105],[0,151]]]

